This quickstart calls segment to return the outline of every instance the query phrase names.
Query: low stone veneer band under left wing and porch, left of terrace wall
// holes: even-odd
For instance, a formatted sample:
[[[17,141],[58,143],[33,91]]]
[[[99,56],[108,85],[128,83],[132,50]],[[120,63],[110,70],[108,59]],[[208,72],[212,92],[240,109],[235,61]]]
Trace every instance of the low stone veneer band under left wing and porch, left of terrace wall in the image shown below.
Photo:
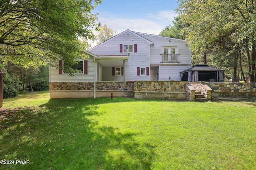
[[[50,90],[94,90],[94,82],[50,82]],[[134,91],[134,82],[96,82],[96,90]]]

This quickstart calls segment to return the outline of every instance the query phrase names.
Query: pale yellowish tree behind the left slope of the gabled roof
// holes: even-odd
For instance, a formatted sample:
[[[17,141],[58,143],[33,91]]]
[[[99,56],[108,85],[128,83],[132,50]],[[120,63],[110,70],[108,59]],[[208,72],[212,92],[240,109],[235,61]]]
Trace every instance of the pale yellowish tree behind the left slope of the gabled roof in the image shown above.
[[[96,35],[96,41],[98,44],[107,41],[108,39],[114,37],[117,34],[116,29],[112,29],[104,24],[99,33]]]

